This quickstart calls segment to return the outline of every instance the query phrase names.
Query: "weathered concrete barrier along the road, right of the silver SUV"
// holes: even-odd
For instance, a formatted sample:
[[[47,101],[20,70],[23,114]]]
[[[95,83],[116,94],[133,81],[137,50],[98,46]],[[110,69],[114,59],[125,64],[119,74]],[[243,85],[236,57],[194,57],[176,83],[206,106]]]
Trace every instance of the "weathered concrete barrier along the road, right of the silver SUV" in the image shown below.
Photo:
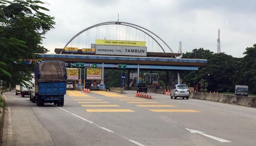
[[[189,97],[193,99],[210,100],[210,101],[216,101],[221,103],[256,107],[256,97],[223,95],[223,94],[213,94],[213,93],[193,93],[193,92],[189,94]]]

